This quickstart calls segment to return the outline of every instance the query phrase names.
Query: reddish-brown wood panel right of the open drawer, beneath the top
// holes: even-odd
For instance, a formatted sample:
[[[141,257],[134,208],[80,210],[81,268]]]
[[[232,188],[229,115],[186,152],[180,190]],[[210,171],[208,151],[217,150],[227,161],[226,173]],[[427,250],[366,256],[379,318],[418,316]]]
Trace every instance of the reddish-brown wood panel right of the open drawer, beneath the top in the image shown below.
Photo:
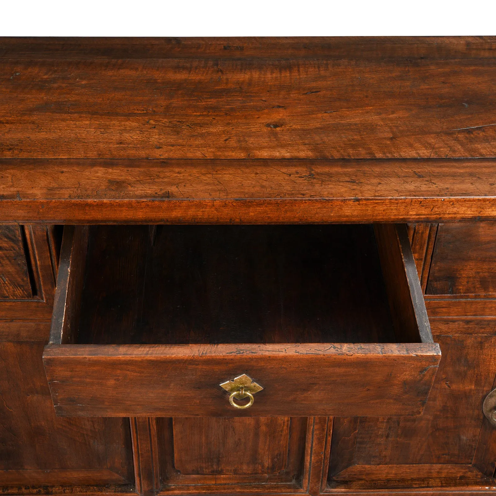
[[[496,222],[439,224],[426,295],[496,294]]]

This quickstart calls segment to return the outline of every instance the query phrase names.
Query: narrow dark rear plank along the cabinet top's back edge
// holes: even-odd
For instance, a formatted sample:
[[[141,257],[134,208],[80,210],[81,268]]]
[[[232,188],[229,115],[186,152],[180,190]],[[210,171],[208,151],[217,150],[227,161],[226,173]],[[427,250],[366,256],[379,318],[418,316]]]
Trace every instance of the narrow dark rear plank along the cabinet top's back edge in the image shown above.
[[[493,59],[494,36],[0,38],[0,59]]]

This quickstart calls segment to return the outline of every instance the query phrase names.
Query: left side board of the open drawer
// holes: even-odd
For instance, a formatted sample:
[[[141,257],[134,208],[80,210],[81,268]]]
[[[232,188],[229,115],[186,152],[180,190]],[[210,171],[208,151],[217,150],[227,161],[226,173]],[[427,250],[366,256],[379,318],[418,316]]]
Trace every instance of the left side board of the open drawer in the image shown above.
[[[51,343],[76,342],[88,238],[87,226],[67,226],[64,229],[50,333]]]

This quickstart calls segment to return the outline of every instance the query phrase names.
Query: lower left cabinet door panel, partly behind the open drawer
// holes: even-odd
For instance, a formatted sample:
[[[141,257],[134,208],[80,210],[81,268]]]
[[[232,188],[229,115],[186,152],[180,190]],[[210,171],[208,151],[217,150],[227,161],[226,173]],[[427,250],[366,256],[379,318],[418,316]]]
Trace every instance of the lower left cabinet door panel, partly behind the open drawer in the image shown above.
[[[0,342],[0,486],[129,484],[128,423],[56,417],[43,345]]]

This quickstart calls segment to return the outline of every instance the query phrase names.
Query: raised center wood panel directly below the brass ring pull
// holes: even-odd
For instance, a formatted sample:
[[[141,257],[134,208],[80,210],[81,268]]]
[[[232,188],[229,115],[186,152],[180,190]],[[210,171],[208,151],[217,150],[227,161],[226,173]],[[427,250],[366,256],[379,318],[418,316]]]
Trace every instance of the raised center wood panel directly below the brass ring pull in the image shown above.
[[[289,417],[176,418],[174,466],[184,475],[274,474],[288,461]]]

